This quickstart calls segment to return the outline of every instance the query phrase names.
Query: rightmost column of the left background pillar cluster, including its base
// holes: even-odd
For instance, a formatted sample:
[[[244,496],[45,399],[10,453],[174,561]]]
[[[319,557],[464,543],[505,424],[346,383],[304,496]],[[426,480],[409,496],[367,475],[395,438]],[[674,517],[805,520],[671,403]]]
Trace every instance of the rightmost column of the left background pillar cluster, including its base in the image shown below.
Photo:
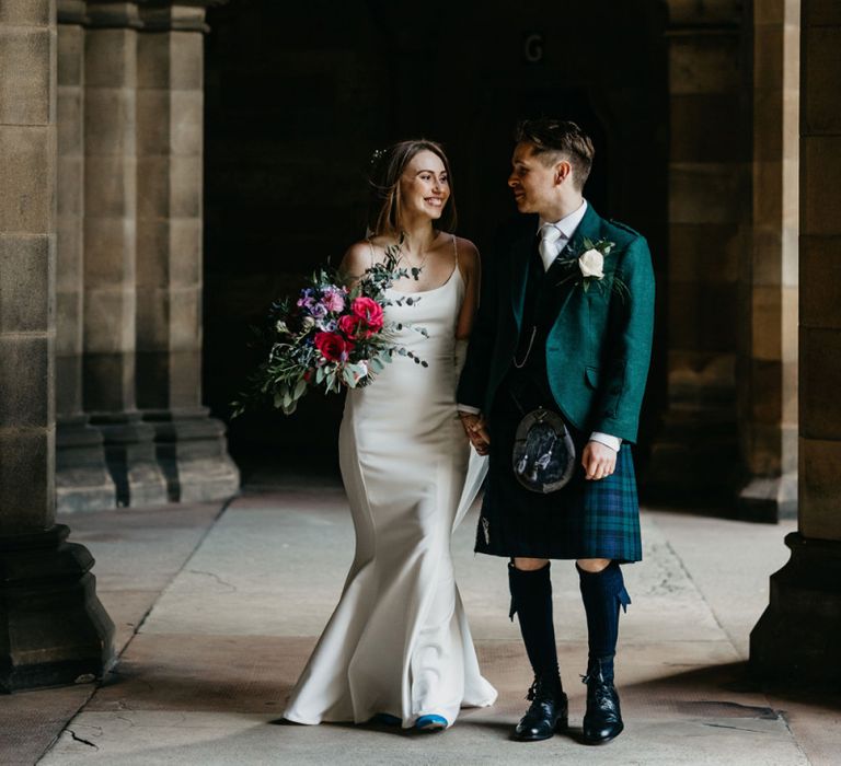
[[[137,90],[137,401],[172,501],[233,495],[201,406],[203,8],[142,8]]]

